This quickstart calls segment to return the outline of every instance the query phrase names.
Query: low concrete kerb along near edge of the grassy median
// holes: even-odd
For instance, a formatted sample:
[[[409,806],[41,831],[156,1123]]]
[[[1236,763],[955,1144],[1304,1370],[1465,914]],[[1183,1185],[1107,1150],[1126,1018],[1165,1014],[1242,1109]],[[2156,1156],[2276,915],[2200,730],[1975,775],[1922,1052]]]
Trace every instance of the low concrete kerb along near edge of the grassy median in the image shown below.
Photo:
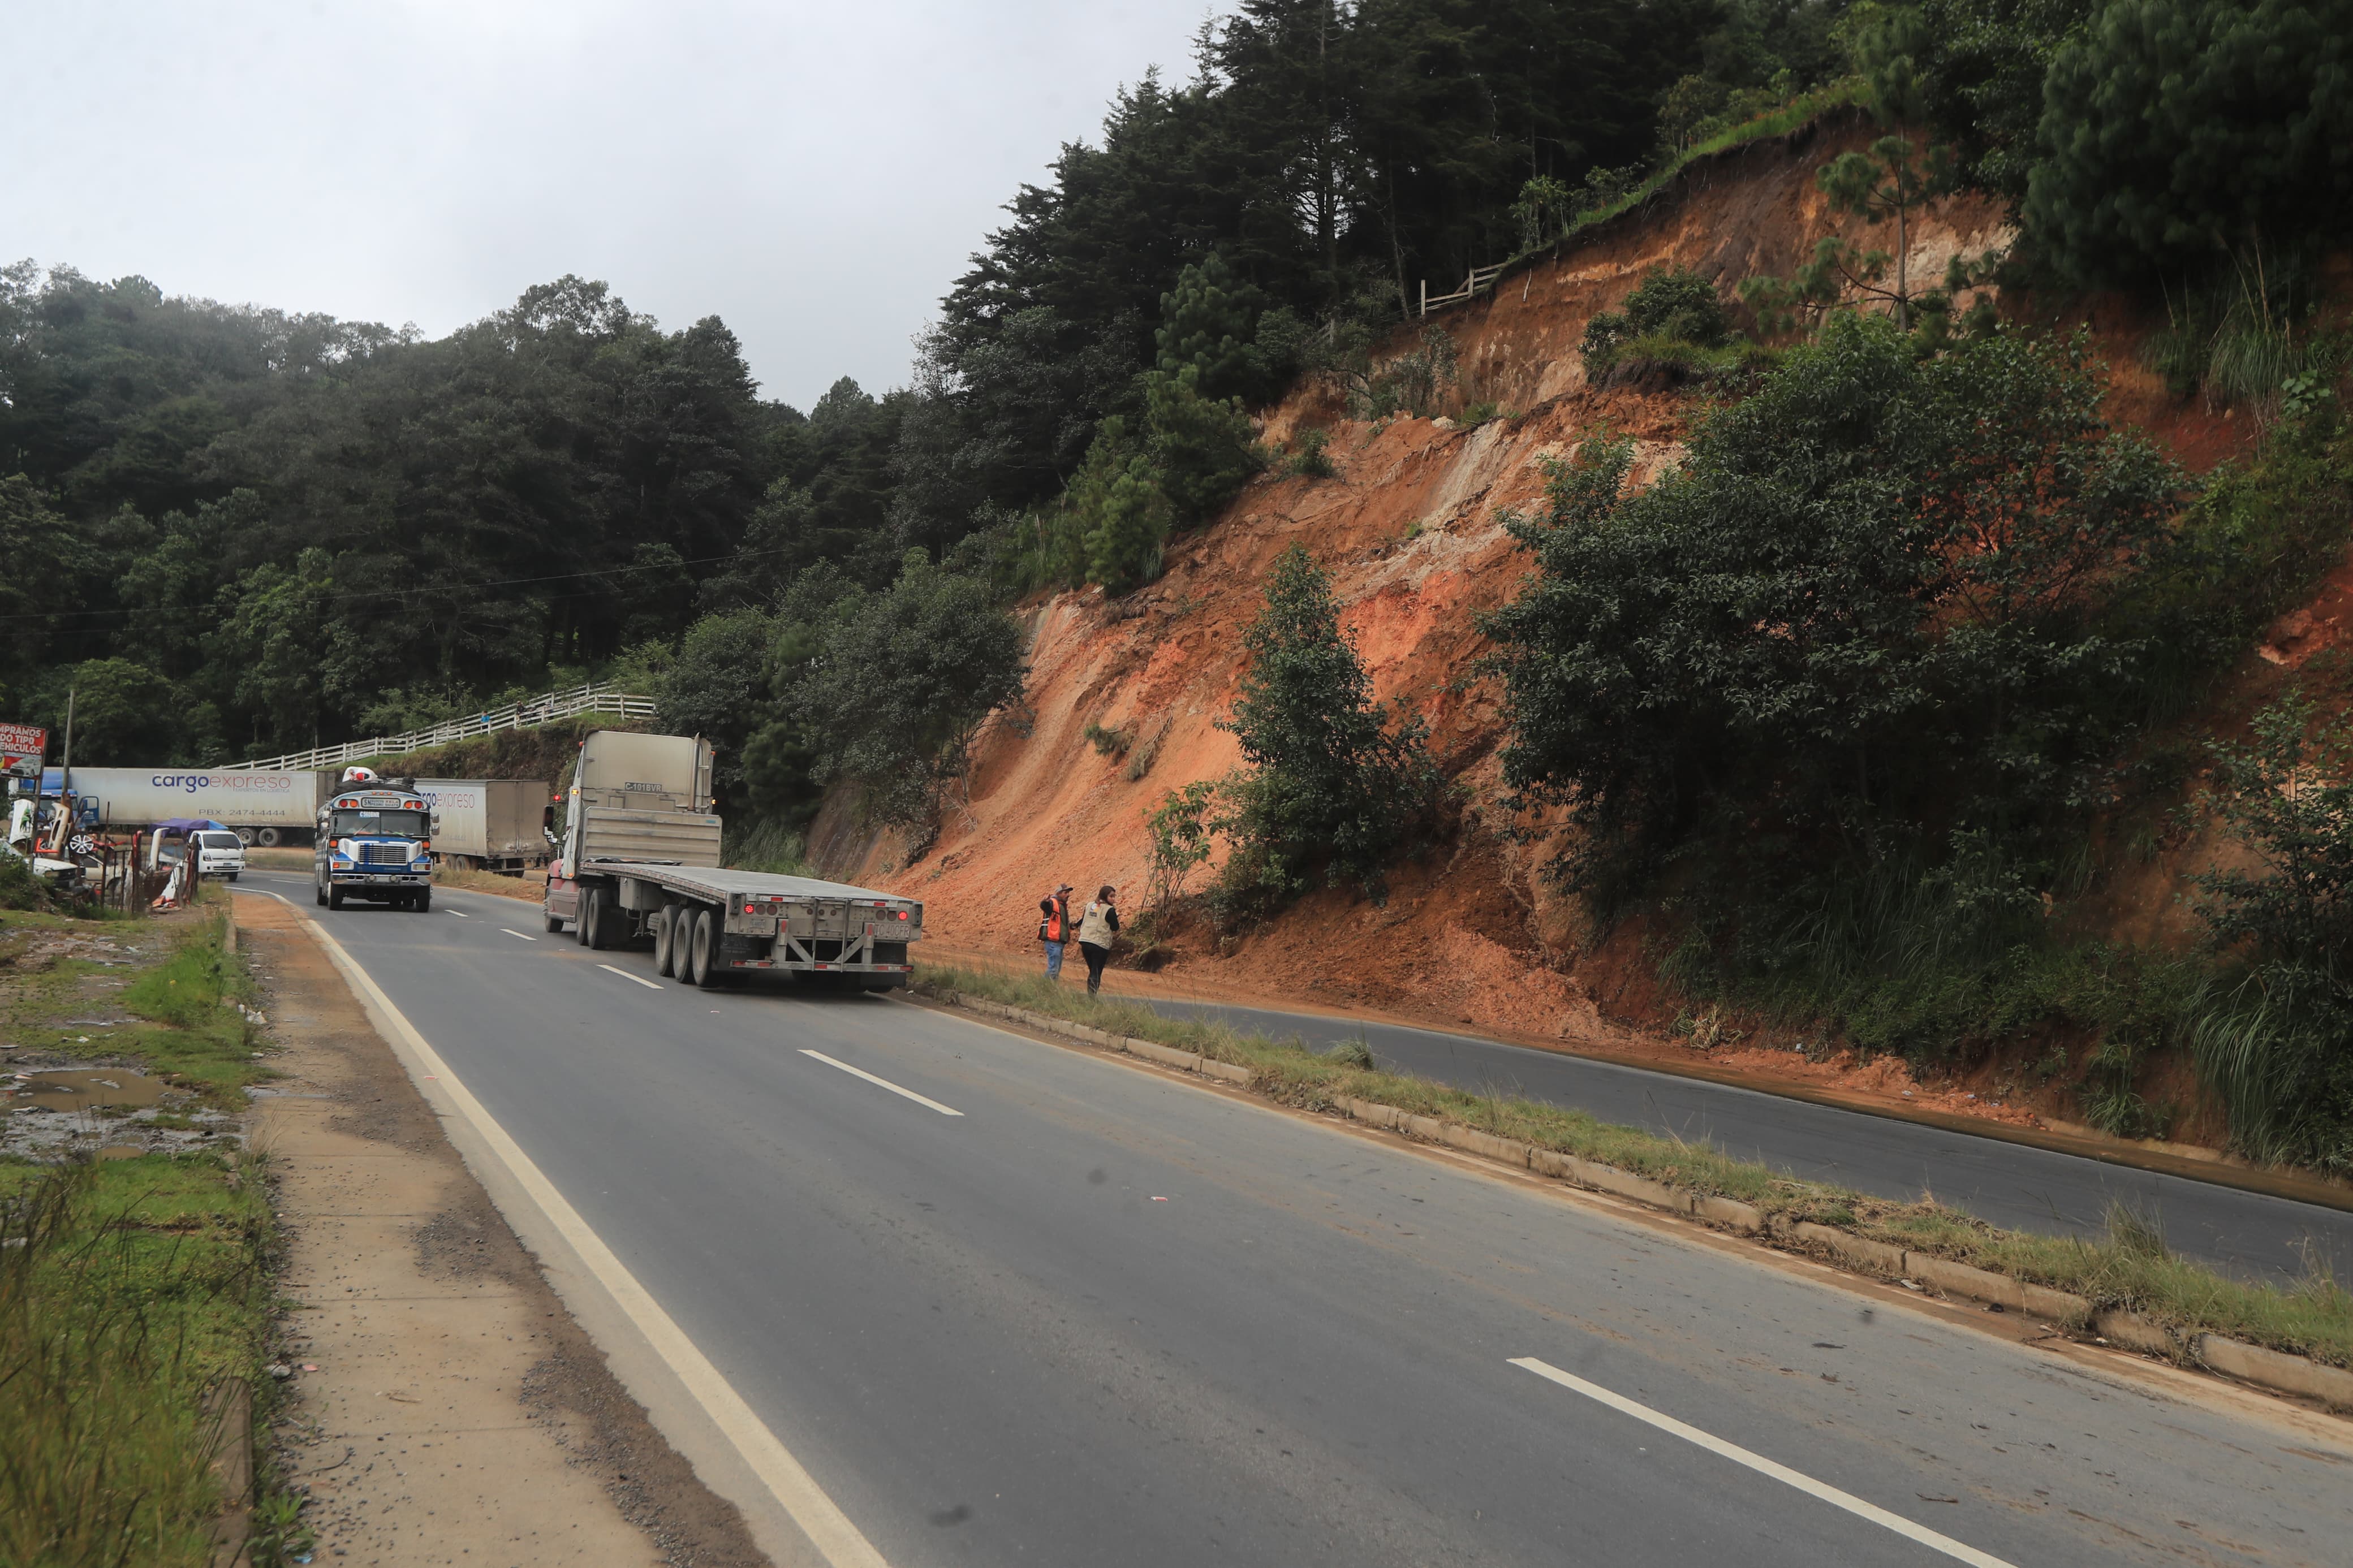
[[[1257,1084],[1257,1074],[1235,1063],[1219,1063],[1195,1051],[1179,1051],[1176,1046],[1113,1034],[1111,1030],[1094,1030],[1066,1018],[1052,1018],[1049,1013],[1007,1006],[1005,1001],[988,1001],[986,997],[967,997],[958,992],[955,1006],[991,1018],[1005,1018],[1047,1034],[1080,1039],[1092,1046],[1104,1046],[1106,1051],[1122,1051],[1160,1067],[1174,1067],[1176,1072],[1195,1072],[1221,1084],[1238,1084],[1242,1088]],[[2200,1366],[2275,1394],[2294,1394],[2299,1399],[2315,1399],[2339,1410],[2353,1410],[2353,1371],[2311,1361],[2306,1356],[2289,1356],[2278,1349],[2264,1349],[2261,1345],[2242,1345],[2240,1340],[2228,1340],[2219,1333],[2181,1333],[2137,1312],[2118,1307],[2097,1309],[2087,1298],[2071,1291],[2054,1291],[2049,1286],[2012,1279],[2009,1274],[1993,1274],[1991,1269],[1977,1269],[1965,1262],[1953,1262],[1951,1258],[1913,1253],[1887,1241],[1854,1237],[1831,1225],[1779,1222],[1753,1204],[1685,1192],[1680,1187],[1668,1187],[1666,1182],[1654,1182],[1647,1175],[1635,1175],[1633,1171],[1619,1171],[1617,1166],[1605,1166],[1593,1159],[1579,1159],[1577,1154],[1539,1150],[1534,1145],[1518,1143],[1513,1138],[1497,1138],[1494,1133],[1482,1133],[1457,1121],[1414,1117],[1395,1105],[1341,1100],[1341,1110],[1346,1110],[1351,1119],[1365,1121],[1367,1126],[1388,1128],[1407,1138],[1421,1138],[1424,1143],[1435,1143],[1464,1154],[1494,1159],[1518,1171],[1551,1175],[1574,1187],[1607,1192],[1647,1208],[1664,1208],[1666,1213],[1685,1215],[1718,1229],[1739,1232],[1744,1237],[1765,1237],[1779,1246],[1828,1255],[1859,1274],[1878,1274],[1913,1288],[1932,1288],[1941,1295],[1977,1300],[2002,1312],[2024,1312],[2064,1328],[2089,1331],[2108,1345],[2122,1345],[2141,1354]]]

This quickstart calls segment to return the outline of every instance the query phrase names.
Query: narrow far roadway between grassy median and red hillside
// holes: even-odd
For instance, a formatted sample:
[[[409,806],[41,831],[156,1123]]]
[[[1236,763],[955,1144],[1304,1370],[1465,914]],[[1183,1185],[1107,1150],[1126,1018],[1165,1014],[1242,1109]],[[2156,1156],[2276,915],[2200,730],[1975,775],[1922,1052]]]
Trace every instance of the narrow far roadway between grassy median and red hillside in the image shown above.
[[[1372,1058],[1395,1072],[1473,1093],[1572,1105],[1602,1121],[1715,1143],[1727,1154],[1875,1197],[1932,1192],[2012,1229],[2099,1237],[2108,1229],[2111,1204],[2120,1204],[2155,1220],[2174,1251],[2245,1276],[2297,1279],[2306,1258],[2332,1267],[2339,1279],[2353,1274],[2353,1213],[2341,1208],[1471,1034],[1207,1001],[1127,999],[1172,1018],[1219,1018],[1275,1039],[1299,1034],[1318,1051],[1362,1039]]]

